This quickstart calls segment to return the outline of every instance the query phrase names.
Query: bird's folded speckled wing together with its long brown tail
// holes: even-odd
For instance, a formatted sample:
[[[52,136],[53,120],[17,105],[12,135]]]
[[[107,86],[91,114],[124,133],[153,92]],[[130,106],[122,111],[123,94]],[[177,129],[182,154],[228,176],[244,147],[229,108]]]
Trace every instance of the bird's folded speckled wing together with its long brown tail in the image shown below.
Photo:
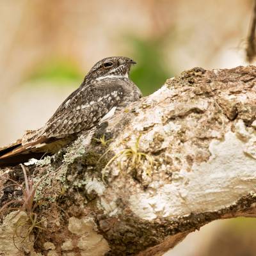
[[[74,134],[92,128],[124,97],[120,83],[122,81],[116,83],[99,81],[97,84],[82,85],[77,88],[61,104],[44,127],[33,132],[26,140],[23,138],[0,148],[0,166],[8,163],[15,164],[21,160],[27,161],[32,157],[41,157],[45,152],[56,152],[57,150],[51,150],[50,144],[60,149],[65,145],[65,140],[62,138],[70,137],[74,140]],[[70,142],[70,140],[67,141]]]

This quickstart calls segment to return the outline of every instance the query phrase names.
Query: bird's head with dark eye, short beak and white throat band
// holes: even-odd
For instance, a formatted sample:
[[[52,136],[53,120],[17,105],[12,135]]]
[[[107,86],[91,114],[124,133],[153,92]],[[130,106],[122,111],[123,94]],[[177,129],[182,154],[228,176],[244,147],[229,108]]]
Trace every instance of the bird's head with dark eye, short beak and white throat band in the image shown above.
[[[98,61],[85,77],[85,81],[97,81],[108,77],[127,77],[135,61],[127,57],[109,57]]]

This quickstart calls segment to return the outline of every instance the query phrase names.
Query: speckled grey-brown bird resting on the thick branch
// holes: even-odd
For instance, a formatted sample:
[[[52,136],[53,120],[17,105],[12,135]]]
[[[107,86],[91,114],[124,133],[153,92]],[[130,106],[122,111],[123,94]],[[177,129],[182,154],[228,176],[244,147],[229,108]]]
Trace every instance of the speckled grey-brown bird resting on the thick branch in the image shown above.
[[[43,127],[28,130],[19,140],[0,148],[0,168],[55,154],[81,131],[96,127],[104,116],[140,100],[141,91],[129,78],[134,64],[122,56],[98,61]]]

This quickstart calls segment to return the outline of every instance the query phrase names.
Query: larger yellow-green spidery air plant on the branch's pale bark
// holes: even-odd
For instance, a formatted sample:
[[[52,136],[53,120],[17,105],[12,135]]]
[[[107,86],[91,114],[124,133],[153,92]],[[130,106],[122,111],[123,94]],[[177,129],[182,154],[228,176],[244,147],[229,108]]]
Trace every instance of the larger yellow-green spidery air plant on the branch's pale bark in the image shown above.
[[[140,166],[143,165],[142,161],[143,159],[146,159],[149,163],[149,168],[147,168],[146,173],[148,176],[152,175],[152,169],[153,169],[153,159],[152,157],[148,156],[148,154],[140,152],[140,136],[136,139],[136,143],[132,145],[130,148],[125,148],[115,154],[108,163],[106,164],[105,168],[107,168],[111,163],[113,163],[116,159],[119,158],[118,166],[120,170],[123,170],[122,166],[122,159],[126,158],[129,164],[129,168],[131,170],[136,170]],[[104,178],[104,172],[102,173],[102,176]]]

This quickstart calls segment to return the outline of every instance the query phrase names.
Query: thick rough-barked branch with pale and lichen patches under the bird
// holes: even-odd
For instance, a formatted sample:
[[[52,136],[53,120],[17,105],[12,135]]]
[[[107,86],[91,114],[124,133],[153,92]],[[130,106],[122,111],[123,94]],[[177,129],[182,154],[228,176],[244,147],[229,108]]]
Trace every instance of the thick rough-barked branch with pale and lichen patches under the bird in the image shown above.
[[[256,216],[255,83],[254,66],[182,72],[27,166],[42,179],[35,212],[44,230],[15,237],[17,250],[15,220],[26,212],[4,212],[0,255],[163,255],[212,220]],[[94,140],[103,134],[107,146]],[[20,166],[0,174],[0,186],[24,182]],[[19,187],[0,196],[22,197]]]

